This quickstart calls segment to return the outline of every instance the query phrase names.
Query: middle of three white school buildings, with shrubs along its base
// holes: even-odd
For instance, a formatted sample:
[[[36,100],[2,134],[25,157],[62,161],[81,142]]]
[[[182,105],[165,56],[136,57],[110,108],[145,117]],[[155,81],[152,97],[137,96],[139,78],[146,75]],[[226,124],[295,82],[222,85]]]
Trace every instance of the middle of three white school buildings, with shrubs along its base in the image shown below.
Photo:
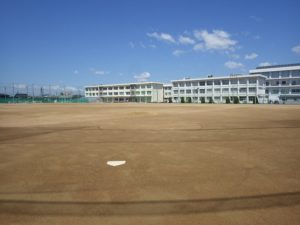
[[[172,81],[173,101],[185,102],[191,100],[193,103],[200,103],[210,99],[214,103],[225,103],[226,98],[239,97],[241,102],[252,103],[257,97],[259,102],[265,102],[266,78],[261,75],[239,75],[228,77],[210,77],[199,79],[185,79]]]

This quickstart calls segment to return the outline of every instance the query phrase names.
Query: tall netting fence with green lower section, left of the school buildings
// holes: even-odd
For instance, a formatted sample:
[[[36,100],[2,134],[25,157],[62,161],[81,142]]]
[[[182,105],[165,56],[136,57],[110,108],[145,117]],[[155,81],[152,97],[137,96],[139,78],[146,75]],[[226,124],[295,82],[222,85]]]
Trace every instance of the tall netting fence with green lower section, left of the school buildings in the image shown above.
[[[83,87],[0,84],[0,103],[85,103]]]

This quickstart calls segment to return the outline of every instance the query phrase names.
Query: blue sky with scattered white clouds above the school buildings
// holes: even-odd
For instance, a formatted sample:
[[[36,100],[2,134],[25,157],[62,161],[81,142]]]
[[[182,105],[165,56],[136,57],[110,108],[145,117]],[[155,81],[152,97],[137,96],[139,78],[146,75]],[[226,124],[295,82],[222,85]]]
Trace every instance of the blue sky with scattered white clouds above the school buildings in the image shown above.
[[[87,85],[300,62],[300,1],[1,0],[0,83]]]

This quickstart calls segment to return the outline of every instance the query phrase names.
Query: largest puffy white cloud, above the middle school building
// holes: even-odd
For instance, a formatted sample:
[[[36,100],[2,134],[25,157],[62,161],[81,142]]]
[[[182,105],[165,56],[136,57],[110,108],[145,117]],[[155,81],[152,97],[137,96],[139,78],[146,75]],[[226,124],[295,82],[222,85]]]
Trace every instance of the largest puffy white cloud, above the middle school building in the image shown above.
[[[223,30],[213,30],[209,33],[207,30],[195,30],[194,36],[202,41],[204,48],[201,50],[234,50],[237,41],[230,38],[230,34]],[[194,46],[194,50],[199,48]]]

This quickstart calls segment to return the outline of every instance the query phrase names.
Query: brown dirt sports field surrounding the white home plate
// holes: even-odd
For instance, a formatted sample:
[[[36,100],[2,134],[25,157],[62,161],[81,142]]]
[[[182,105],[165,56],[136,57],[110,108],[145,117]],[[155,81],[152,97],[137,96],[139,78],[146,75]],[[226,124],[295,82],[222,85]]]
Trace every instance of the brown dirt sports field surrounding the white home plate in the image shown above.
[[[0,224],[296,225],[299,175],[300,106],[0,105]]]

